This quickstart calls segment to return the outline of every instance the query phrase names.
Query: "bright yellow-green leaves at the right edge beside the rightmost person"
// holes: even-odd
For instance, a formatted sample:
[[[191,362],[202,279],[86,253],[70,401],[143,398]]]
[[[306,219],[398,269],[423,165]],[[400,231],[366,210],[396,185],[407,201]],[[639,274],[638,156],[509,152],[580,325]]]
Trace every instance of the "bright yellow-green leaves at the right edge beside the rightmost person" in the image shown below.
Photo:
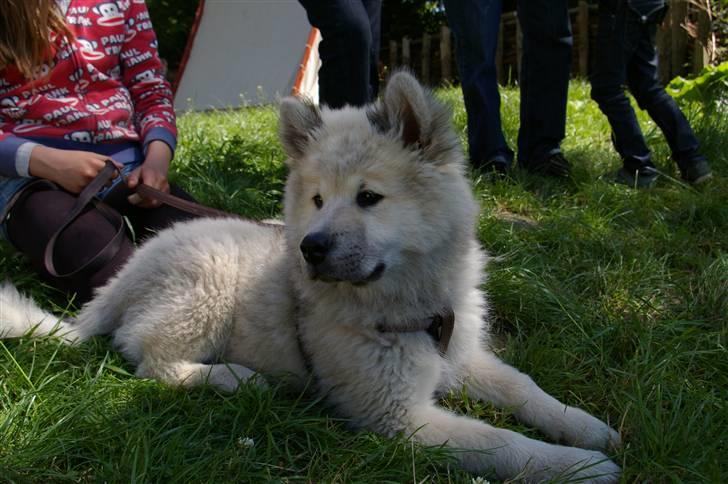
[[[710,112],[728,113],[728,61],[705,67],[693,79],[676,77],[667,89],[679,101],[699,103]]]

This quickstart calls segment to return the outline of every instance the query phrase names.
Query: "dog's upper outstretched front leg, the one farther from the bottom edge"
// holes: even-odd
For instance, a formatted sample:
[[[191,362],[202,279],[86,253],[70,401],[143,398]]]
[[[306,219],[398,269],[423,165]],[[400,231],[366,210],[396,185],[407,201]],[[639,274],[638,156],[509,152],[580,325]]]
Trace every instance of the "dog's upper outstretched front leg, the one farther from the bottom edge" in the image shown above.
[[[551,439],[586,449],[609,450],[620,445],[619,434],[607,424],[579,408],[559,402],[528,375],[503,363],[494,354],[479,351],[467,364],[468,393],[498,407],[512,409],[516,418],[539,428]]]

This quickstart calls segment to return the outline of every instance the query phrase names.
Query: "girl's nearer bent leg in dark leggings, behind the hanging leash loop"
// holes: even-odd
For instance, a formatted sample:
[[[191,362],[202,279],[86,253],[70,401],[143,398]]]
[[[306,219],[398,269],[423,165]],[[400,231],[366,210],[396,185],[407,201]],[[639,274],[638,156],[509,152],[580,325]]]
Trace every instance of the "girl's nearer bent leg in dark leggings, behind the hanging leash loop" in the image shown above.
[[[125,238],[119,251],[100,267],[68,278],[52,277],[43,263],[45,248],[75,202],[76,197],[63,190],[32,192],[13,206],[7,229],[12,243],[30,259],[44,280],[58,289],[76,293],[76,302],[82,303],[91,298],[93,289],[116,274],[131,256],[134,245]],[[58,272],[68,273],[83,266],[106,247],[117,229],[98,210],[89,207],[56,241],[54,263]]]

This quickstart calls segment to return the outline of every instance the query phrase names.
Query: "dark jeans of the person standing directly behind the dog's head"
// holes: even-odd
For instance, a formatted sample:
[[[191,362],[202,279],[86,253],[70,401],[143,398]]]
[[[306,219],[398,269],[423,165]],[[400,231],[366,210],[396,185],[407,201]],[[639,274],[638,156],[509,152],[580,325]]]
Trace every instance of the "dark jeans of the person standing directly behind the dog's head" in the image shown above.
[[[319,99],[331,108],[376,98],[382,0],[299,0],[321,31]]]

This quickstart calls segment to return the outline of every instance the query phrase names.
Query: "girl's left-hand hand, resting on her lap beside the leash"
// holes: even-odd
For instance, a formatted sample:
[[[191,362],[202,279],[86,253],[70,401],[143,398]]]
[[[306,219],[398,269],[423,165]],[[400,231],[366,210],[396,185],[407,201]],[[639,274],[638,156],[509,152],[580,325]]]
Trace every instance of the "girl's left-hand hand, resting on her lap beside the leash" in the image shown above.
[[[71,193],[80,193],[104,168],[109,157],[90,151],[71,151],[36,146],[30,153],[28,171],[50,180]],[[121,168],[115,163],[117,168]],[[118,174],[114,174],[116,178]]]

